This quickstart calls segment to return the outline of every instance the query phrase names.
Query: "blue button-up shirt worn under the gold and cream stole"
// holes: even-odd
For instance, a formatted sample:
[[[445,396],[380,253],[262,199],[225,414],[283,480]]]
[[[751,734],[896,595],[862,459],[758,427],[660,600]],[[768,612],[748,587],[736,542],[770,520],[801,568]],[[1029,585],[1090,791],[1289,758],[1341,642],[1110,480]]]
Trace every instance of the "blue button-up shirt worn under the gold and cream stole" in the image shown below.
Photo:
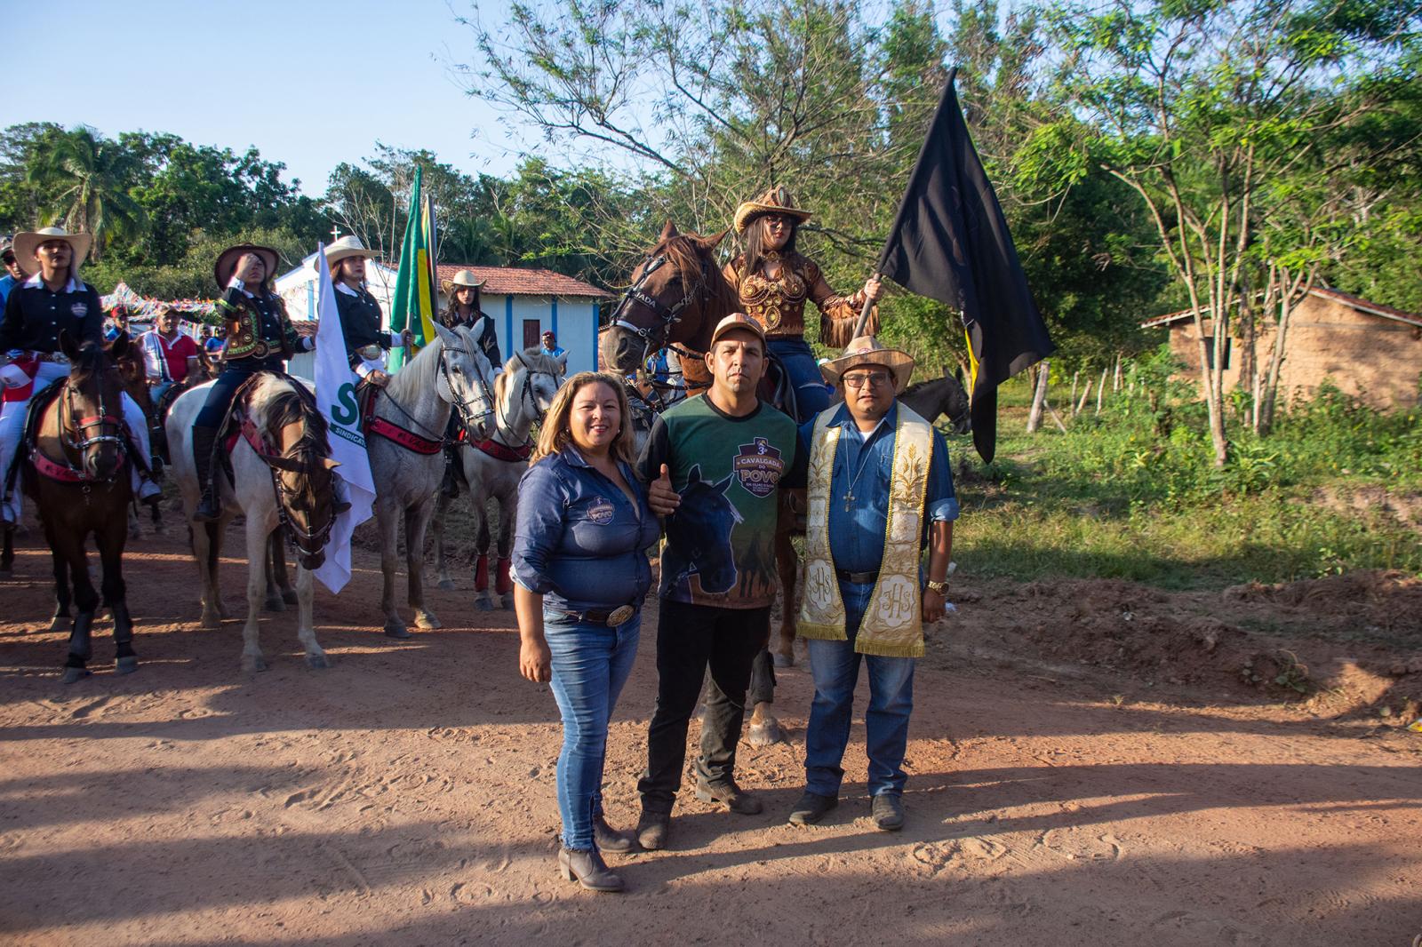
[[[889,478],[893,471],[894,401],[875,431],[865,439],[843,404],[830,424],[843,428],[835,449],[835,469],[829,485],[829,553],[835,567],[846,572],[877,572],[884,557],[884,533],[889,529]],[[809,449],[815,421],[801,425],[801,444]],[[853,492],[849,509],[845,495]],[[958,498],[953,492],[948,445],[933,432],[933,458],[923,495],[926,528],[931,522],[958,518]],[[522,506],[520,506],[522,509]]]

